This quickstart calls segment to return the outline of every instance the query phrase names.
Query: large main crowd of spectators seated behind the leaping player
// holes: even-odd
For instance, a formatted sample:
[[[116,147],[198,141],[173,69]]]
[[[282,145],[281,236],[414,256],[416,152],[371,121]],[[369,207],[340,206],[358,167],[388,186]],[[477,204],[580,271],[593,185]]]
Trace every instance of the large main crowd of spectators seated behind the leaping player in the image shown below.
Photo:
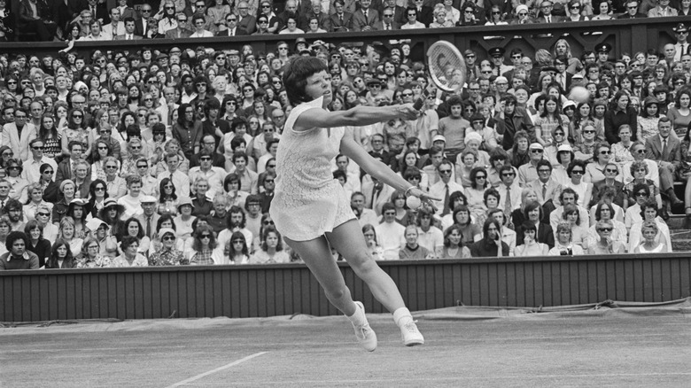
[[[196,8],[156,34],[174,19],[237,18],[199,14],[200,1],[161,10],[180,3]],[[661,52],[619,58],[606,43],[574,56],[564,39],[534,54],[464,50],[466,84],[451,94],[406,42],[2,53],[0,269],[299,261],[268,214],[293,55],[322,58],[331,110],[423,101],[417,120],[346,134],[435,206],[409,208],[333,161],[377,260],[671,252],[665,219],[691,216],[691,54],[687,26],[671,29]]]

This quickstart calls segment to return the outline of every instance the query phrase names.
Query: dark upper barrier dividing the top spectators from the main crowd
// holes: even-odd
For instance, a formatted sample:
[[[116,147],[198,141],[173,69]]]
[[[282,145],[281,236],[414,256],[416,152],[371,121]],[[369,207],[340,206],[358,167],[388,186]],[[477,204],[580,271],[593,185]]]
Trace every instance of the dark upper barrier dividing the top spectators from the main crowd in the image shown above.
[[[486,57],[486,50],[501,46],[509,49],[521,48],[524,53],[533,55],[538,49],[552,50],[557,40],[565,38],[571,44],[574,56],[582,50],[593,50],[599,43],[610,43],[614,47],[611,58],[620,57],[622,53],[633,55],[637,51],[656,49],[662,51],[665,43],[674,43],[672,27],[685,21],[688,17],[651,18],[651,19],[615,19],[585,22],[568,22],[559,24],[529,24],[516,26],[492,27],[450,27],[425,28],[420,30],[377,31],[368,32],[307,34],[307,35],[250,35],[225,38],[196,39],[145,39],[139,41],[77,41],[74,50],[89,57],[94,50],[140,50],[151,47],[153,50],[168,50],[176,46],[195,49],[198,46],[218,49],[240,50],[244,44],[252,44],[255,52],[276,50],[281,41],[292,42],[298,37],[306,37],[309,42],[322,40],[327,43],[373,43],[410,39],[414,59],[421,59],[425,48],[431,43],[445,40],[454,43],[462,50],[473,49],[480,58]],[[66,43],[2,43],[0,51],[23,53],[26,55],[55,55],[66,47]]]

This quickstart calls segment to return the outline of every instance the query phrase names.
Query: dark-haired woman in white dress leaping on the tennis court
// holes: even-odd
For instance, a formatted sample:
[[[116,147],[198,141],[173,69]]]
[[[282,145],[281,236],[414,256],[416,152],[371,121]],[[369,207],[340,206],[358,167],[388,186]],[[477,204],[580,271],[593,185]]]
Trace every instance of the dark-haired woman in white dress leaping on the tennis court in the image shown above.
[[[377,335],[369,327],[361,302],[353,301],[330,246],[344,255],[375,298],[393,313],[404,344],[422,345],[424,338],[396,284],[372,259],[350,199],[333,179],[330,164],[343,153],[369,175],[430,205],[432,198],[372,158],[353,136],[344,136],[343,128],[382,120],[415,120],[419,112],[412,104],[327,111],[333,98],[330,78],[327,67],[314,57],[291,59],[283,73],[283,85],[294,108],[276,153],[276,194],[269,210],[276,229],[305,261],[330,302],[353,323],[355,335],[366,350],[377,348]]]

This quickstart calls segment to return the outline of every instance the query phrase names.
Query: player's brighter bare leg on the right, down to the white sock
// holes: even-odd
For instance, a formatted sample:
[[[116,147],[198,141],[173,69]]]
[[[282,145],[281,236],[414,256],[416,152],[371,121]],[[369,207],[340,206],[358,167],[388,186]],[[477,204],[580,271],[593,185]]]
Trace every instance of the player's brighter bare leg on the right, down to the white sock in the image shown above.
[[[355,275],[367,283],[374,297],[387,310],[393,313],[400,307],[406,307],[396,283],[372,259],[358,221],[351,220],[338,225],[327,237],[353,268]]]

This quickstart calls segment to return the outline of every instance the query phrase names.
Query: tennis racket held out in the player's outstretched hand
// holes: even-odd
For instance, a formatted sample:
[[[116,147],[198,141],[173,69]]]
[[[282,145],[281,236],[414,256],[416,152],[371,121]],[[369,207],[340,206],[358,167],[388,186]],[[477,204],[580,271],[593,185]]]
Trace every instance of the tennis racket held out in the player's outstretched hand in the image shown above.
[[[455,93],[465,84],[465,60],[461,51],[451,43],[439,41],[430,46],[427,50],[427,68],[430,70],[432,83],[441,90]],[[427,90],[425,93],[428,93]],[[423,102],[423,98],[415,101],[415,108],[420,110]]]

